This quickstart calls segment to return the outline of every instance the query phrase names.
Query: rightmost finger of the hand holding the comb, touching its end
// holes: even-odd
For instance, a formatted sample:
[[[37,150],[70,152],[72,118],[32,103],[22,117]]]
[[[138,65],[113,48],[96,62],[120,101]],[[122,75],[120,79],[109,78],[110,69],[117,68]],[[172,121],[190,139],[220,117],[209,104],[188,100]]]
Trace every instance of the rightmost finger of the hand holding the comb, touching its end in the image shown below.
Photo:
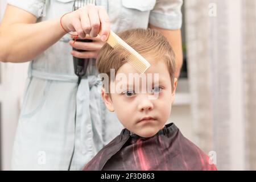
[[[109,15],[103,6],[98,7],[98,15],[101,22],[101,40],[105,42],[109,37],[110,31]]]

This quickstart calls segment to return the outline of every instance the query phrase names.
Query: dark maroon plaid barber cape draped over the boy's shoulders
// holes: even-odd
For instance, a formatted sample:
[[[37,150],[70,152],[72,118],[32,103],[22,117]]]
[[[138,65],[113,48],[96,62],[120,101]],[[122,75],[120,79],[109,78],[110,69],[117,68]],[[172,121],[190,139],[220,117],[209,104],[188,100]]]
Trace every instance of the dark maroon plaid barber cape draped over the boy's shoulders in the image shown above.
[[[150,138],[123,129],[83,170],[217,170],[209,156],[170,123]]]

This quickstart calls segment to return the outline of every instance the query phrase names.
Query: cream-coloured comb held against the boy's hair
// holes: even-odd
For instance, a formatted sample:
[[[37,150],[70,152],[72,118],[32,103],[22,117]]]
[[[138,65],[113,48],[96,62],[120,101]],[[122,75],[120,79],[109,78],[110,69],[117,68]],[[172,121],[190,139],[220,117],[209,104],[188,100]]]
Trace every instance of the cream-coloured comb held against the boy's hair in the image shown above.
[[[106,42],[115,48],[121,48],[127,52],[127,57],[125,60],[130,63],[138,72],[144,73],[149,67],[150,63],[144,57],[142,57],[137,51],[135,51],[131,46],[124,42],[117,34],[110,30],[109,37]]]

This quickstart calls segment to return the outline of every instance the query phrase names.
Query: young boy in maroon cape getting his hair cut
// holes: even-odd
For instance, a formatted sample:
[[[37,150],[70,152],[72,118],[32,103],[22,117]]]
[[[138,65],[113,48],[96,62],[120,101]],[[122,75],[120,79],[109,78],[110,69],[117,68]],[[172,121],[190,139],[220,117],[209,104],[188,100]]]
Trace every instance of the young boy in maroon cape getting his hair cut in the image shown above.
[[[137,70],[127,63],[121,48],[113,49],[108,44],[102,47],[96,64],[101,74],[108,75],[109,84],[102,86],[101,96],[125,129],[83,169],[216,170],[209,157],[183,137],[174,123],[165,125],[177,85],[175,55],[167,39],[150,29],[128,30],[119,36],[151,67],[144,73],[146,79],[140,75],[138,80],[134,76]],[[114,78],[110,69],[114,69]],[[147,90],[143,92],[145,81]]]

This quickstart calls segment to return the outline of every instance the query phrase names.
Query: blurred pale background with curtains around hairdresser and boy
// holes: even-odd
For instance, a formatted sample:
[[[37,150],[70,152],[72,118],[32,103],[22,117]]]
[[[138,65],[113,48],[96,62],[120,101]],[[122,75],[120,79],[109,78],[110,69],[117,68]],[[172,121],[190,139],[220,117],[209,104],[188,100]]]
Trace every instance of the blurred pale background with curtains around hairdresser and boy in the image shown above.
[[[219,170],[255,170],[256,1],[184,0],[182,11],[184,64],[168,122]],[[2,170],[11,169],[27,67],[0,63]]]

